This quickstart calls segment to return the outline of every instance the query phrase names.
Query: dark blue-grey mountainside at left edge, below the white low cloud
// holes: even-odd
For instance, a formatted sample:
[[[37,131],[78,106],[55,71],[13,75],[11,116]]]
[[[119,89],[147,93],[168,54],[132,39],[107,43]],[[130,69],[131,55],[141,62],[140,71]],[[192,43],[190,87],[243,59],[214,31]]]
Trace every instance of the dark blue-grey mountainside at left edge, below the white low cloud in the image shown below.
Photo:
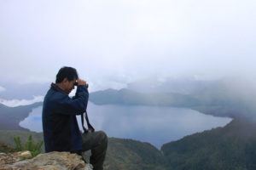
[[[8,107],[0,104],[0,129],[28,131],[28,129],[20,127],[19,123],[29,115],[33,108],[40,105],[42,105],[42,102],[17,107]]]

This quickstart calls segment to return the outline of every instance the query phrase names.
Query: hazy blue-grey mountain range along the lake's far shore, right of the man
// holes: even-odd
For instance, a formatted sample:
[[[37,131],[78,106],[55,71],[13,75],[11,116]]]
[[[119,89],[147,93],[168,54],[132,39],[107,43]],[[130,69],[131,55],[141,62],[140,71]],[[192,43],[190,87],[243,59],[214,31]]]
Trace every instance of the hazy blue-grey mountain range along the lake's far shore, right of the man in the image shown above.
[[[256,89],[253,83],[230,80],[205,83],[191,94],[139,93],[131,89],[107,89],[90,94],[96,105],[162,105],[185,107],[213,116],[248,118],[256,121]]]

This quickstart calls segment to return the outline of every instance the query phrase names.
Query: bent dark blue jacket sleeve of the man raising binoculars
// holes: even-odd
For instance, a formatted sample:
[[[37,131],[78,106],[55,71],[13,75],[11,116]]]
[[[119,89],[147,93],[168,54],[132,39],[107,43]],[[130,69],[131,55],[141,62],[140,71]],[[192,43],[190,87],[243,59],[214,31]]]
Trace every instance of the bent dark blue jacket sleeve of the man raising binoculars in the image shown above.
[[[80,85],[77,88],[76,95],[73,99],[68,95],[62,95],[58,100],[55,111],[65,115],[81,115],[86,111],[89,99],[88,89]]]

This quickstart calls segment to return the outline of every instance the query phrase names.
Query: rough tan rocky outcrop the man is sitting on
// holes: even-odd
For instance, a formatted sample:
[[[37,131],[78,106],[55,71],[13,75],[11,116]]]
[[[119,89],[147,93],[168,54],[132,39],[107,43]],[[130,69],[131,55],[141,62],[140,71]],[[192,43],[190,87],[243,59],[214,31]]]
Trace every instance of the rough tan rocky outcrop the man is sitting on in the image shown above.
[[[0,153],[0,169],[28,170],[28,169],[54,169],[54,170],[92,170],[90,164],[85,164],[81,156],[69,152],[49,152],[39,154],[32,159],[21,161],[24,152]]]

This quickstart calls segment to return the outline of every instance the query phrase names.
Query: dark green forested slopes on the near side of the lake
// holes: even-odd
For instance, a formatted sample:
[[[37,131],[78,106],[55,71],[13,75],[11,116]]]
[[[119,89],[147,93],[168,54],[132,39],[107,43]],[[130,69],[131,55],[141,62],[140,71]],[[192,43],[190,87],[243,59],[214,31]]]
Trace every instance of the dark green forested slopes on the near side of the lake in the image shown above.
[[[109,170],[253,170],[256,169],[256,124],[234,119],[225,127],[164,144],[157,150],[152,144],[132,139],[108,139],[108,153],[104,169]],[[13,138],[25,142],[29,135],[35,142],[42,133],[0,131],[0,150],[15,147]]]

